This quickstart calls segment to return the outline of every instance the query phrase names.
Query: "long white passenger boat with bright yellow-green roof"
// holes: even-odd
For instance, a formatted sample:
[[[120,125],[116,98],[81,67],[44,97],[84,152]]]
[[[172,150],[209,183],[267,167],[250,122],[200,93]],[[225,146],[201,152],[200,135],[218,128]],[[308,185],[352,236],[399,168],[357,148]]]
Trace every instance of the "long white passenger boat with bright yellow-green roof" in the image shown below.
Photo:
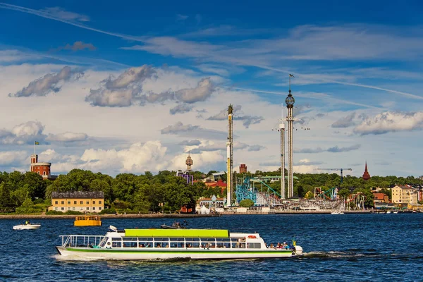
[[[104,236],[61,235],[62,256],[87,259],[255,259],[302,255],[302,247],[268,247],[258,233],[212,229],[125,229]]]

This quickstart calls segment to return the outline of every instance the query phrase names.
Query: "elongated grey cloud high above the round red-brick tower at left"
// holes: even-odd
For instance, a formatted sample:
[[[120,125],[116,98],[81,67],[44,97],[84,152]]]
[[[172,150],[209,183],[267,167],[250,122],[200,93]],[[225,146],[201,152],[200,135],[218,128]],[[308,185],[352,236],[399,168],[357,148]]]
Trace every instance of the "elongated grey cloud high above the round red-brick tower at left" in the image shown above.
[[[30,97],[30,96],[46,96],[50,92],[59,92],[60,84],[68,82],[71,79],[78,80],[84,73],[80,71],[72,71],[71,67],[65,66],[59,73],[49,73],[42,78],[38,78],[30,82],[27,87],[15,94],[8,94],[9,97]]]

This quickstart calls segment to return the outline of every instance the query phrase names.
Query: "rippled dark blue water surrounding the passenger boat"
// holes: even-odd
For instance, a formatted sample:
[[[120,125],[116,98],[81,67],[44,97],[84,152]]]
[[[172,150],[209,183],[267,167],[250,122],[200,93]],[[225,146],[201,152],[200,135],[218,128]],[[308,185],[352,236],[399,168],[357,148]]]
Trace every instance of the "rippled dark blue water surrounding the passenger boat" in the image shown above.
[[[180,220],[180,219],[178,219]],[[0,281],[423,281],[423,214],[245,215],[188,219],[190,228],[255,232],[266,243],[295,237],[306,252],[291,259],[231,261],[68,261],[59,235],[104,235],[107,226],[159,228],[172,219],[104,219],[102,227],[71,219],[0,220]]]

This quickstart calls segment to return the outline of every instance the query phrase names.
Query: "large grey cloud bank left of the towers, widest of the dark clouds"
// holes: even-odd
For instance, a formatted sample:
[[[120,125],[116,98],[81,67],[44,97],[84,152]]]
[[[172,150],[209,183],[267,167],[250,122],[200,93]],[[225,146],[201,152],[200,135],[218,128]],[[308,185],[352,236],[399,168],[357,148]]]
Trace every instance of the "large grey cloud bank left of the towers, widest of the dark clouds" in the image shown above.
[[[147,103],[163,103],[168,100],[192,104],[204,101],[214,92],[210,78],[203,78],[193,88],[143,93],[143,83],[153,76],[157,78],[157,71],[150,66],[129,68],[118,78],[110,77],[102,81],[102,87],[99,89],[90,90],[85,102],[89,102],[92,106],[144,106]],[[188,106],[180,107],[185,111],[188,109]]]

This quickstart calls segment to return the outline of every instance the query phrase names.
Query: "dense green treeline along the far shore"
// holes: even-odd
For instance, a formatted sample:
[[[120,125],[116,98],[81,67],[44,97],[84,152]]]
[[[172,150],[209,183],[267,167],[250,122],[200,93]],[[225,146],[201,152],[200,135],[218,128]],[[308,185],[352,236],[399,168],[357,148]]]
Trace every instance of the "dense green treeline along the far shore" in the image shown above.
[[[210,176],[216,171],[202,173],[193,171],[191,174],[195,180]],[[276,176],[280,171],[256,171],[247,173],[247,176]],[[341,177],[336,173],[321,174],[297,174],[294,194],[299,197],[308,197],[314,192],[315,187],[327,190],[339,187],[340,195],[347,197],[353,192],[364,192],[367,195],[367,205],[372,205],[372,193],[370,188],[392,188],[394,185],[423,185],[423,180],[408,176],[407,178],[396,176],[372,176],[364,181],[355,176],[345,176],[341,185]],[[245,175],[236,174],[238,180]],[[226,176],[223,176],[226,180]],[[271,188],[279,191],[281,186],[278,181],[267,183]],[[115,178],[102,173],[92,173],[80,169],[73,169],[66,175],[61,175],[54,181],[42,180],[37,173],[0,173],[0,210],[1,211],[29,211],[34,204],[51,204],[51,192],[59,191],[103,191],[106,205],[128,212],[174,212],[186,205],[194,207],[199,197],[217,195],[223,197],[226,190],[221,188],[209,188],[202,182],[188,185],[185,179],[176,176],[175,171],[160,171],[153,175],[149,171],[137,176],[132,173],[121,173]],[[309,192],[309,193],[307,193]],[[385,189],[388,195],[389,190]]]

